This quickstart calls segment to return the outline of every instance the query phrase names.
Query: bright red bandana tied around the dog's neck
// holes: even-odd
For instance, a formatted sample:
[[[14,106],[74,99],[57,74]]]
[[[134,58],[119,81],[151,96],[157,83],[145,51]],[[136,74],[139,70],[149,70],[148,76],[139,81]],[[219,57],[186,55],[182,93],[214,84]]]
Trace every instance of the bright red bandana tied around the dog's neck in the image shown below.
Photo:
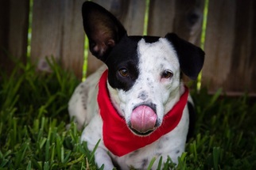
[[[180,122],[184,107],[188,101],[188,88],[180,96],[180,100],[174,105],[163,119],[163,123],[157,130],[154,130],[149,136],[137,136],[133,134],[126,121],[115,110],[111,104],[109,93],[107,90],[107,70],[103,73],[99,80],[98,104],[100,115],[103,119],[103,142],[107,149],[118,157],[140,149],[145,145],[149,145],[161,138],[162,135],[169,133]]]

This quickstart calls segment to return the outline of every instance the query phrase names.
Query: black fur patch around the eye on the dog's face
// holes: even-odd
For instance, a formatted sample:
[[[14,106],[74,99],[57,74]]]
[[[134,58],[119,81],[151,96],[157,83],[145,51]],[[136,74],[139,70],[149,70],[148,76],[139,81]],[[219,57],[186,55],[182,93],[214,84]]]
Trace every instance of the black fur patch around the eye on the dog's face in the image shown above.
[[[109,70],[108,81],[112,88],[128,91],[138,78],[138,41],[145,39],[147,43],[156,42],[155,36],[124,36],[116,44],[107,57],[106,64]],[[128,76],[123,77],[119,70],[126,69]]]

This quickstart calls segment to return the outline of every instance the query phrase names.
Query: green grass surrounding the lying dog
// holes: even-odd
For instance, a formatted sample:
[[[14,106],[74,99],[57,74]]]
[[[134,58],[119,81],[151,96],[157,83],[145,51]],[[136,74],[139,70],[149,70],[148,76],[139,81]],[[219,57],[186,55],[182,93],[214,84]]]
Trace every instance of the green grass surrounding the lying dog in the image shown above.
[[[68,100],[80,81],[56,64],[52,70],[37,74],[19,62],[9,76],[1,70],[0,169],[97,169],[93,153],[80,143],[81,131],[73,123],[65,128]],[[211,96],[206,89],[192,96],[195,137],[176,169],[256,169],[256,104],[246,95]],[[164,167],[152,164],[174,167],[171,160]]]

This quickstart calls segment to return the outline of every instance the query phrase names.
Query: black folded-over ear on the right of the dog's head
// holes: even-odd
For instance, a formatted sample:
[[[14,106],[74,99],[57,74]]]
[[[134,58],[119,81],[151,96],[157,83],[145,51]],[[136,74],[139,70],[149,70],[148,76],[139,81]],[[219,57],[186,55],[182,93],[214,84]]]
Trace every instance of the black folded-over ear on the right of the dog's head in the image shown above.
[[[165,38],[169,40],[176,50],[181,71],[196,80],[204,64],[204,51],[188,41],[180,39],[175,33],[168,33]]]

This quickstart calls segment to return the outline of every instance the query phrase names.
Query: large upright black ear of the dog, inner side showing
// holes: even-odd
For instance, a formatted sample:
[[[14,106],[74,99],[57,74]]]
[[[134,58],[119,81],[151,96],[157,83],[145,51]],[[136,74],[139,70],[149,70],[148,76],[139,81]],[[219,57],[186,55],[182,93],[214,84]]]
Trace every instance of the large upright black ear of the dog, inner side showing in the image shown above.
[[[126,29],[112,13],[94,2],[83,2],[82,14],[91,54],[106,62],[114,45],[126,36]]]

